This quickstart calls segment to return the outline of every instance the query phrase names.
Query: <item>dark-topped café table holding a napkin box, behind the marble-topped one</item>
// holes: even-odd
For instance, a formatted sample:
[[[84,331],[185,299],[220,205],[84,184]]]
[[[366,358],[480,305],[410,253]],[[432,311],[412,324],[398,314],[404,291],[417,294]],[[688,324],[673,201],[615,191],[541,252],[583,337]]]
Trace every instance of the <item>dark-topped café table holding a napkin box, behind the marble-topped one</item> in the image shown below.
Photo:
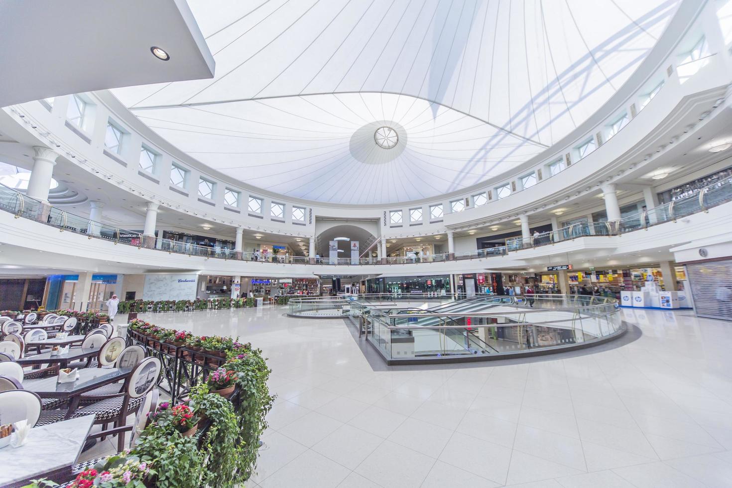
[[[69,401],[66,418],[70,418],[79,406],[81,394],[100,386],[124,380],[132,368],[84,368],[79,369],[79,379],[70,383],[58,383],[58,376],[40,380],[23,381],[23,388],[33,391],[41,398],[61,398]]]

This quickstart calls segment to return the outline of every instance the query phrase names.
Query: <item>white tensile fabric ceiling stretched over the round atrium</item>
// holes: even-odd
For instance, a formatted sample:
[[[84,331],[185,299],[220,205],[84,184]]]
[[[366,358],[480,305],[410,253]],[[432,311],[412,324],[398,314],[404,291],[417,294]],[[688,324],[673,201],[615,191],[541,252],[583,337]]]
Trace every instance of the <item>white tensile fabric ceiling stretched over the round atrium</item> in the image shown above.
[[[551,146],[627,80],[679,0],[189,3],[215,78],[113,93],[246,184],[379,204],[472,186]]]

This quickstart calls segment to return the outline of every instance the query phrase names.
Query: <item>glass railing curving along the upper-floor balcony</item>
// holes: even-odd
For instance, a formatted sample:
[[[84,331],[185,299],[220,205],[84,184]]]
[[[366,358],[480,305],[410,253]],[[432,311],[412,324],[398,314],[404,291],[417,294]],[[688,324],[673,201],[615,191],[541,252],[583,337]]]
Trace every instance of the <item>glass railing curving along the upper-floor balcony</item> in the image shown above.
[[[489,258],[491,256],[507,255],[509,252],[532,247],[541,247],[563,241],[572,241],[578,237],[590,236],[618,236],[635,230],[646,229],[665,222],[675,222],[676,219],[697,214],[702,211],[732,201],[732,178],[718,181],[704,187],[691,195],[686,195],[669,203],[657,206],[638,214],[610,222],[585,222],[568,225],[567,227],[538,233],[526,239],[508,239],[506,245],[489,249],[477,249],[468,252],[450,254],[433,254],[422,256],[398,256],[389,258],[359,258],[358,265],[376,264],[411,264],[411,263],[440,263],[449,260],[464,260]],[[205,258],[246,260],[252,262],[287,263],[287,264],[318,264],[350,266],[356,264],[351,258],[337,258],[331,262],[329,258],[306,258],[283,254],[264,255],[259,252],[237,252],[234,249],[223,247],[207,247],[190,244],[171,239],[143,236],[143,234],[121,229],[104,222],[96,222],[71,214],[54,206],[34,200],[15,189],[0,185],[0,209],[15,214],[16,218],[32,219],[37,222],[51,225],[61,232],[84,234],[89,239],[103,239],[114,244],[127,244],[135,247],[149,247],[169,253]]]

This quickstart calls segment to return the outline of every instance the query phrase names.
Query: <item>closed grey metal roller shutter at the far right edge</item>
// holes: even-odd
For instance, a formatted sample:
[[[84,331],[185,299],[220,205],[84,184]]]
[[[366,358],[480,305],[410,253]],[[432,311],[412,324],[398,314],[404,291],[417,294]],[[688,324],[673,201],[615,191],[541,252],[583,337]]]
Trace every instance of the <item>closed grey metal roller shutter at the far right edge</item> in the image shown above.
[[[732,320],[732,259],[687,264],[698,317]]]

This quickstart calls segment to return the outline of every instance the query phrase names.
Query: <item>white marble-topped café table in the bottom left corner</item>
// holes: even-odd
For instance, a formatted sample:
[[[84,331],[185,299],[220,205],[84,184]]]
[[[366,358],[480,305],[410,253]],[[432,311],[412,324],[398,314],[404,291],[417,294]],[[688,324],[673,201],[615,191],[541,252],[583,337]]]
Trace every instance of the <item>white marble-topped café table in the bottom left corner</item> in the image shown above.
[[[94,415],[85,415],[34,427],[23,446],[0,449],[0,487],[23,487],[36,478],[57,482],[72,478],[93,424]]]

